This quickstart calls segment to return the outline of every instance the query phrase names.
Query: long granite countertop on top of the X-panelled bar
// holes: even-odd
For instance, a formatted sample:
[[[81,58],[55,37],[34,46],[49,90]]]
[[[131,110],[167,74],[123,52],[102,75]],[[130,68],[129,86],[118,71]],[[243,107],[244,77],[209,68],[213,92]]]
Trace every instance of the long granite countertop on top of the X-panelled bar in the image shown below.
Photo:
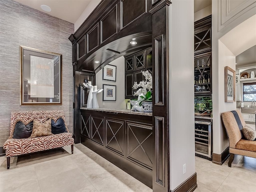
[[[125,113],[125,114],[134,114],[134,115],[145,115],[152,116],[152,113],[144,113],[139,111],[131,111],[129,109],[110,109],[110,108],[86,108],[81,107],[82,110],[92,110],[92,111],[101,111],[101,112],[110,112],[110,113]]]

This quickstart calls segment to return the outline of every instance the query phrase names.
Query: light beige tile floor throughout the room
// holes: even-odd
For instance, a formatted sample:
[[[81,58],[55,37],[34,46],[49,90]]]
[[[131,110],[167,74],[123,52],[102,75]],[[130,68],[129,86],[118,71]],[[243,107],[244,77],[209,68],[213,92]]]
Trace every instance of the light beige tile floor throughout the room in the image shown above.
[[[1,192],[152,192],[82,144],[33,155],[0,157]],[[256,192],[256,158],[235,156],[232,168],[196,157],[195,192]]]

